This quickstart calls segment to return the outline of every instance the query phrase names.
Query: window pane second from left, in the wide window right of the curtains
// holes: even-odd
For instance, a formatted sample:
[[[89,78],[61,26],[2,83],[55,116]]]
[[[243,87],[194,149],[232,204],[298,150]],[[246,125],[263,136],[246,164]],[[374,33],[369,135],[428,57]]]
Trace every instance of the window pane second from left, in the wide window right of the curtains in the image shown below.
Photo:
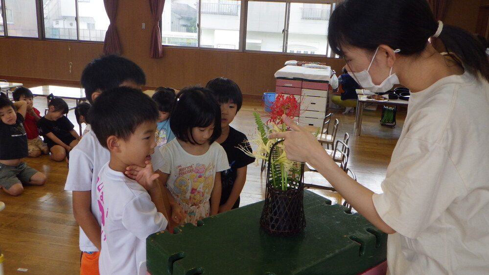
[[[239,48],[240,1],[203,0],[200,6],[200,46]]]

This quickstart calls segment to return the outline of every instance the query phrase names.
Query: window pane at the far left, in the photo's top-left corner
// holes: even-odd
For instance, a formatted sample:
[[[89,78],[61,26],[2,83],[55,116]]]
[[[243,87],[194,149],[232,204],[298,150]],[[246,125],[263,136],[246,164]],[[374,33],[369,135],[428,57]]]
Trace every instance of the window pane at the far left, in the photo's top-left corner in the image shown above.
[[[38,37],[36,0],[5,0],[9,36]]]

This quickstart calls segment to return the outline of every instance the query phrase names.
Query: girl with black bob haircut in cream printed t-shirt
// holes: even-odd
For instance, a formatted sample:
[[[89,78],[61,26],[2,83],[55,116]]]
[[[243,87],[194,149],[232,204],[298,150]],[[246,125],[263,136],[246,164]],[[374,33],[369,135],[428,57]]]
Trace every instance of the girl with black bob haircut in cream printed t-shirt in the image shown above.
[[[170,228],[215,215],[221,198],[221,171],[229,169],[221,135],[221,109],[209,89],[180,91],[170,114],[175,139],[162,147],[162,182],[171,196]]]

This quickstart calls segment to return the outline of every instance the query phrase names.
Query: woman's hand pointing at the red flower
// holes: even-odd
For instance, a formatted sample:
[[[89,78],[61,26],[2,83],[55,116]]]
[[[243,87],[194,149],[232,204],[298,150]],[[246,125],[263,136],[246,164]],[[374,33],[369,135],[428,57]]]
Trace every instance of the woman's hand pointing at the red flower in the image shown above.
[[[309,162],[309,158],[314,152],[324,152],[323,147],[317,138],[305,128],[297,125],[286,115],[282,115],[282,120],[292,131],[273,133],[268,138],[284,138],[285,152],[287,159]]]

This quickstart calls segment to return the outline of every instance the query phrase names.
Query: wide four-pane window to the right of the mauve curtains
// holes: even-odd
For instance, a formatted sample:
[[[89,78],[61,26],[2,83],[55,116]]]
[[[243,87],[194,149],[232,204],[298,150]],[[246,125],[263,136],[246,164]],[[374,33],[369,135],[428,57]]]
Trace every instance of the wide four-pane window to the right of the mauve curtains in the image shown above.
[[[291,1],[166,1],[163,45],[331,57],[327,25],[335,1],[326,4],[320,4],[320,0]],[[246,11],[242,13],[241,9]],[[247,15],[246,20],[241,14]]]

